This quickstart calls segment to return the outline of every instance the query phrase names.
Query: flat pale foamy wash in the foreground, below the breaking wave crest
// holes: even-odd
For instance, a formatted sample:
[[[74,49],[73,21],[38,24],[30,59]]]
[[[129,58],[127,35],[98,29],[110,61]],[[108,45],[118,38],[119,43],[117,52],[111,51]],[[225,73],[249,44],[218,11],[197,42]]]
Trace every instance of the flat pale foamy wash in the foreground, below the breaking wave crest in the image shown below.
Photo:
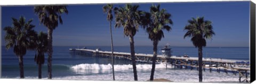
[[[92,70],[94,71],[94,70]],[[111,70],[105,70],[109,73],[95,73],[95,74],[79,74],[79,75],[67,75],[67,76],[55,76],[52,79],[64,79],[64,80],[113,80]],[[5,77],[2,77],[5,78]],[[19,77],[17,77],[18,79]],[[37,77],[25,77],[26,79],[37,79]],[[138,80],[146,81],[150,78],[150,70],[147,71],[138,71]],[[194,70],[185,70],[185,69],[156,69],[155,79],[164,78],[172,80],[174,82],[198,82],[198,71]],[[43,78],[47,79],[47,78]],[[115,79],[117,81],[134,81],[132,70],[127,71],[116,71]],[[235,82],[239,83],[239,75],[234,75],[229,72],[218,73],[217,71],[209,70],[203,71],[203,82]],[[243,77],[242,80],[245,78]],[[249,77],[250,80],[250,77]]]

